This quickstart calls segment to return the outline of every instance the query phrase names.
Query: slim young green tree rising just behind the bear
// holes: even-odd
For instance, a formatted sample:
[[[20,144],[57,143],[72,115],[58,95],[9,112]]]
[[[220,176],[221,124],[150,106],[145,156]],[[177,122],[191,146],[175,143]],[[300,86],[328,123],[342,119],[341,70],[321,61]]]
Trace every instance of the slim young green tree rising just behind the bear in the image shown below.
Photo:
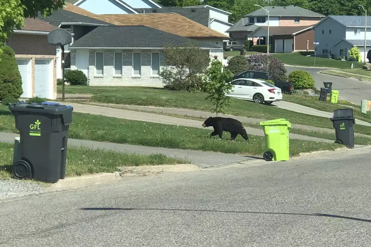
[[[215,106],[212,112],[225,113],[224,108],[232,102],[227,94],[232,90],[233,85],[228,83],[233,78],[233,73],[223,65],[220,61],[214,60],[207,71],[208,82],[205,91],[208,94],[206,99],[210,100]]]

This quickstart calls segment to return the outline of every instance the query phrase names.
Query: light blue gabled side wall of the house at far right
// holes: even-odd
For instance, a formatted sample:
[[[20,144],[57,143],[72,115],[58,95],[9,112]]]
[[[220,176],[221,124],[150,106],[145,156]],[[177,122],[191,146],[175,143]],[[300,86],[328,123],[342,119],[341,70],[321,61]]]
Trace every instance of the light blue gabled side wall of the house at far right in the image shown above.
[[[317,54],[322,54],[322,50],[324,49],[327,49],[328,52],[333,53],[333,45],[342,38],[345,38],[346,28],[330,17],[323,20],[313,29],[314,39],[316,42],[319,42],[319,45],[317,45]],[[330,29],[332,31],[331,34],[329,34]],[[322,30],[324,30],[324,34],[322,34]]]

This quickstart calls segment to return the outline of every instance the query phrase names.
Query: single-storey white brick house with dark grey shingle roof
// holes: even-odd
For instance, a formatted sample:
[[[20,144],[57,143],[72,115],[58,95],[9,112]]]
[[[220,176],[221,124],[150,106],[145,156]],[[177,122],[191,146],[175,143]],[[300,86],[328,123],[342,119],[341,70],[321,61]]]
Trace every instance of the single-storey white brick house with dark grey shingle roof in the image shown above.
[[[70,46],[71,69],[82,70],[91,86],[161,87],[162,49],[191,41],[147,26],[99,26]],[[197,45],[211,57],[223,58],[223,48]]]

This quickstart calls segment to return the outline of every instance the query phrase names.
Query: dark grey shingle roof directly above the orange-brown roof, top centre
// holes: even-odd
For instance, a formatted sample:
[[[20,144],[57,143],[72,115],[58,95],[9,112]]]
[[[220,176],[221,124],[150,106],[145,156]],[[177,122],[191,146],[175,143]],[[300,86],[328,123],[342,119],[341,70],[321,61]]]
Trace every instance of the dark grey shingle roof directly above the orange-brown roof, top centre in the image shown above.
[[[209,9],[195,8],[192,12],[191,8],[181,8],[181,7],[162,7],[156,9],[135,9],[138,13],[142,13],[145,10],[145,13],[177,13],[181,16],[184,16],[194,22],[198,22],[206,27],[209,27]],[[154,12],[156,11],[156,12]]]

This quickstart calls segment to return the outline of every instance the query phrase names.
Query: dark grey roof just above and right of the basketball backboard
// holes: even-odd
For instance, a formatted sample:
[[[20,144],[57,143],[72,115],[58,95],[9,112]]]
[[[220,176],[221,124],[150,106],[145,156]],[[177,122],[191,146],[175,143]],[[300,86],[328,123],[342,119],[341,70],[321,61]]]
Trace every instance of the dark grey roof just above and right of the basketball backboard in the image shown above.
[[[111,23],[103,22],[101,20],[94,19],[92,17],[83,16],[81,14],[76,14],[67,10],[59,9],[54,11],[50,16],[42,17],[41,15],[38,17],[42,20],[47,20],[48,22],[52,23],[54,26],[59,26],[62,22],[83,22],[83,23],[92,23],[98,25],[110,25]]]

